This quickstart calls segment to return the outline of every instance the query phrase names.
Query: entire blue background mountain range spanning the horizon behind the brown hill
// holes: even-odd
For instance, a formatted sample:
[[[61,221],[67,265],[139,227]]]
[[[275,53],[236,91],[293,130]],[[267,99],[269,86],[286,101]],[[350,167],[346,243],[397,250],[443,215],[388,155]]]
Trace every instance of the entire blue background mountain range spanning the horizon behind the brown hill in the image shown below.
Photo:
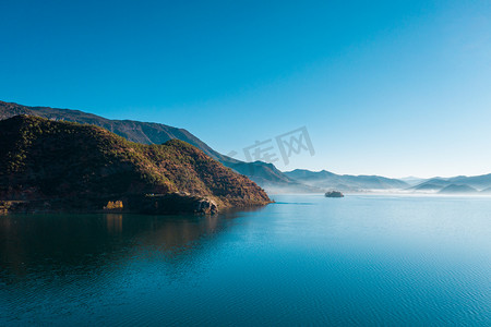
[[[450,184],[466,184],[477,190],[491,187],[491,174],[455,177],[448,179],[434,178],[421,181],[418,181],[417,178],[408,178],[407,181],[404,181],[378,175],[339,175],[325,170],[313,172],[297,169],[289,172],[282,172],[272,164],[262,161],[244,162],[221,155],[183,129],[132,120],[109,120],[79,110],[26,107],[0,101],[0,120],[16,114],[29,114],[55,121],[71,121],[82,124],[98,125],[131,142],[142,144],[163,144],[169,140],[181,140],[197,147],[224,166],[247,175],[260,186],[272,193],[323,193],[326,189],[336,189],[345,192],[392,189],[440,191]]]

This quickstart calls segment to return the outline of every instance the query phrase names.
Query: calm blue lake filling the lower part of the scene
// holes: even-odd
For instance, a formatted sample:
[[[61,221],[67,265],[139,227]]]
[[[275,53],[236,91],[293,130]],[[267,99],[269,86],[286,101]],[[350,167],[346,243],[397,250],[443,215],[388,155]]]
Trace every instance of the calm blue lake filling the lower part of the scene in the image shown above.
[[[0,325],[491,326],[491,198],[0,216]]]

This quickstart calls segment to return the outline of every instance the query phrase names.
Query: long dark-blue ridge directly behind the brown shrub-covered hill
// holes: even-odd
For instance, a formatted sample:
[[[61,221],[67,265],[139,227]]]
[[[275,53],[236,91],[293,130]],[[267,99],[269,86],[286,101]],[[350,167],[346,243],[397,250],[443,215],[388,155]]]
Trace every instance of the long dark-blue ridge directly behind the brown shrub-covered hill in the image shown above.
[[[0,120],[8,119],[16,114],[29,114],[56,121],[71,121],[82,124],[93,124],[101,126],[131,142],[142,144],[163,144],[173,138],[181,140],[194,145],[209,157],[220,161],[224,166],[232,168],[237,172],[249,177],[252,181],[265,189],[301,193],[322,192],[322,190],[302,185],[298,181],[291,180],[271,164],[262,161],[244,162],[221,155],[183,129],[133,120],[110,120],[79,110],[55,109],[49,107],[27,107],[0,101]]]

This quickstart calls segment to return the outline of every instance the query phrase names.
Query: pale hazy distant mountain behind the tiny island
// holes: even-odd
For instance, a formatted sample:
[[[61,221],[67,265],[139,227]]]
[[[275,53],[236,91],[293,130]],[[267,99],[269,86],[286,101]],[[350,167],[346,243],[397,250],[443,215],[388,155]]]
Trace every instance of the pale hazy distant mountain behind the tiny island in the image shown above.
[[[405,189],[409,186],[409,184],[404,181],[380,175],[336,174],[326,170],[310,171],[306,169],[296,169],[292,171],[287,171],[285,174],[303,184],[345,192]]]

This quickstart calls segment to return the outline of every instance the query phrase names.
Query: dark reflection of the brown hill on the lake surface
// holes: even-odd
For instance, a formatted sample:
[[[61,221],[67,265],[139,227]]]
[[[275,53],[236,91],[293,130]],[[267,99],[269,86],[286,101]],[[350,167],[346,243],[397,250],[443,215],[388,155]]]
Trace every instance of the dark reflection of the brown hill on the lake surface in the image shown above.
[[[171,265],[182,254],[200,255],[207,241],[232,226],[237,215],[2,216],[0,281],[11,283],[28,279],[29,275],[94,276],[148,254]]]

